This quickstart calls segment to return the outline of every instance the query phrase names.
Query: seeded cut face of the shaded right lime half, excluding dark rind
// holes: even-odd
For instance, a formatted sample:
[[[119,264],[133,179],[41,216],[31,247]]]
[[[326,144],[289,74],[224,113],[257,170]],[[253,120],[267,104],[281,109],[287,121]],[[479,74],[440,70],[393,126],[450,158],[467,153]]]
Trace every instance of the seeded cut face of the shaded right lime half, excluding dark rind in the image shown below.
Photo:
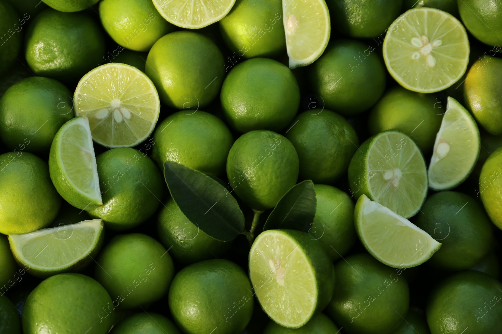
[[[369,191],[376,202],[409,218],[427,193],[425,161],[410,137],[389,131],[376,137],[366,160]]]

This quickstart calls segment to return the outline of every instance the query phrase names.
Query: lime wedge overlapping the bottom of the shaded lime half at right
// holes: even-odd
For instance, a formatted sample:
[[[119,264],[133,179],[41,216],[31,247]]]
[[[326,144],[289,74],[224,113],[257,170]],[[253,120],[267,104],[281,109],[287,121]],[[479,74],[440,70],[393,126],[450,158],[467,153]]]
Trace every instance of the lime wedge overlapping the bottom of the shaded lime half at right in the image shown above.
[[[357,235],[366,250],[388,266],[415,267],[441,247],[427,232],[365,195],[357,200],[354,217]]]

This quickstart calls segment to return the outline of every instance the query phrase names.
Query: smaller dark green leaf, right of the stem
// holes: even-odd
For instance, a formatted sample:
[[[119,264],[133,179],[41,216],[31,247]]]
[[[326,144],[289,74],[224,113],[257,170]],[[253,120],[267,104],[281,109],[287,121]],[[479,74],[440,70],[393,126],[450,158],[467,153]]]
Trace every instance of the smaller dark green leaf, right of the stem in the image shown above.
[[[263,230],[289,228],[308,232],[314,221],[316,205],[314,183],[311,180],[300,182],[277,203]]]

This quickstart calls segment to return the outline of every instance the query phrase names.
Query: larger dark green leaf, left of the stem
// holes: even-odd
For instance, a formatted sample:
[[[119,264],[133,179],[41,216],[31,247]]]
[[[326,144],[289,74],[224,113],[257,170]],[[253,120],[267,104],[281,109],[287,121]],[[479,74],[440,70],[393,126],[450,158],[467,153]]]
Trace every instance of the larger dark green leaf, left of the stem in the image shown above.
[[[230,241],[244,230],[244,214],[218,181],[173,161],[164,163],[164,176],[181,211],[206,234]]]

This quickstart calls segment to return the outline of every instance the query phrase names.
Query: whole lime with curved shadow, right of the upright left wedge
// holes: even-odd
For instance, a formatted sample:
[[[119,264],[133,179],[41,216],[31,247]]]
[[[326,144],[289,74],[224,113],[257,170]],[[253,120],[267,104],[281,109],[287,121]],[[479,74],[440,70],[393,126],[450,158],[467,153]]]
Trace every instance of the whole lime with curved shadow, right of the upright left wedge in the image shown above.
[[[96,157],[103,205],[89,211],[107,228],[138,226],[157,210],[163,191],[162,176],[148,156],[133,148],[114,148]]]

